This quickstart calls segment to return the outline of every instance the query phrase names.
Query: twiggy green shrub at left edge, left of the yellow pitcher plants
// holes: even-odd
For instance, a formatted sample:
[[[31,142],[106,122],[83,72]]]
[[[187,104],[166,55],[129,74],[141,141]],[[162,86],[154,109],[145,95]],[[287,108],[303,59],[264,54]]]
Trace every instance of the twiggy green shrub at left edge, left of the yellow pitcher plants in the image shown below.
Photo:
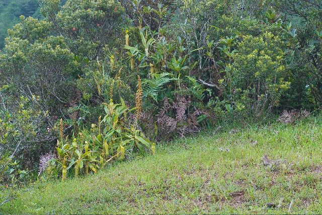
[[[39,101],[39,97],[33,99]],[[0,183],[14,184],[17,179],[25,181],[27,173],[34,175],[28,169],[39,159],[36,152],[49,150],[52,146],[44,143],[54,139],[44,126],[47,115],[26,97],[15,103],[15,109],[0,112]]]

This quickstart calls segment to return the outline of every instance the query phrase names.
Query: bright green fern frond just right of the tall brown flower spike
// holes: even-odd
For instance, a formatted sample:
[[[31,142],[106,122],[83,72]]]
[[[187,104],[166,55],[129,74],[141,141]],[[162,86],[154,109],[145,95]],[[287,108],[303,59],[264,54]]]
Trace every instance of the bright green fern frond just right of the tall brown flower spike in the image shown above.
[[[143,98],[151,98],[157,102],[158,95],[160,91],[164,88],[165,84],[169,82],[178,80],[177,78],[171,78],[172,76],[170,73],[162,73],[155,75],[154,79],[145,79],[142,81],[143,85]]]

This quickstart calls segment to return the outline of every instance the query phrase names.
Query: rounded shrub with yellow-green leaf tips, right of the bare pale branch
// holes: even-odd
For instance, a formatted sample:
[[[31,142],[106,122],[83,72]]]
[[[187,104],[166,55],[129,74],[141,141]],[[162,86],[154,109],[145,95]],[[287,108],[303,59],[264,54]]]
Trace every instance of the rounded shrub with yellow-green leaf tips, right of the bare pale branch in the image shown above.
[[[281,94],[291,84],[281,48],[281,39],[268,32],[245,36],[237,44],[237,53],[233,63],[227,65],[223,80],[226,96],[237,110],[253,110],[261,116],[279,106]]]

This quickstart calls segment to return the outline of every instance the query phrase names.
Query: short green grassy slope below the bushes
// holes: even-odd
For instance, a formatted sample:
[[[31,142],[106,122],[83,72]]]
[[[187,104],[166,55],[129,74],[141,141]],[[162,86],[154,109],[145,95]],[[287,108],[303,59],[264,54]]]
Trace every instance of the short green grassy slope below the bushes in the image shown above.
[[[322,213],[321,122],[179,140],[90,177],[20,190],[0,212],[287,213],[293,199],[291,213]],[[265,153],[274,165],[263,165]]]

